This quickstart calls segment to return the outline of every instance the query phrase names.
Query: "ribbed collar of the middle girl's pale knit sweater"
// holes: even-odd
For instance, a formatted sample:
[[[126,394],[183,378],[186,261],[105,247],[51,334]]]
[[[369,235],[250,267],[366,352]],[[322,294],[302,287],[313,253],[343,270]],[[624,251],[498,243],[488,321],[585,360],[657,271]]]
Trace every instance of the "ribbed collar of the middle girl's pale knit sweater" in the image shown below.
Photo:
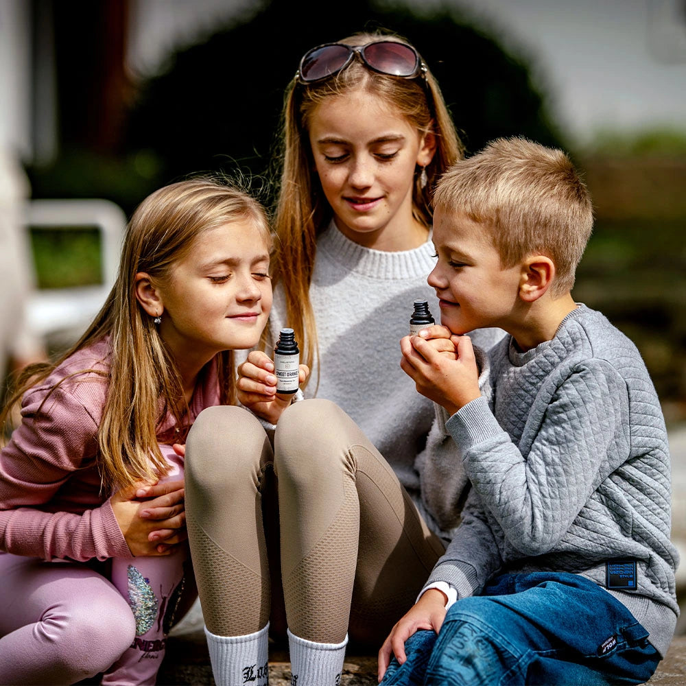
[[[364,248],[344,236],[333,220],[317,240],[317,252],[342,268],[372,279],[411,279],[429,276],[436,260],[434,246],[429,240],[414,250],[386,252]]]

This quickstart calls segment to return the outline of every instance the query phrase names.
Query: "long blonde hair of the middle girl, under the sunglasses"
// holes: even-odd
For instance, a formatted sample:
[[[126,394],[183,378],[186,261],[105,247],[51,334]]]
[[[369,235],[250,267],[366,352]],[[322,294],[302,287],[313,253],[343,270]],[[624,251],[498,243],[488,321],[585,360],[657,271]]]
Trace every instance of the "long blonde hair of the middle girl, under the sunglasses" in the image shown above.
[[[407,43],[398,36],[381,32],[355,34],[339,43],[365,45],[375,40]],[[355,59],[330,79],[314,84],[301,84],[294,79],[289,84],[283,109],[281,185],[274,218],[278,238],[274,285],[279,282],[283,285],[286,321],[300,342],[303,362],[310,368],[316,355],[317,333],[309,285],[317,237],[331,220],[331,208],[318,176],[312,171],[314,160],[307,127],[312,113],[324,99],[355,90],[380,97],[418,132],[432,132],[436,137],[436,152],[426,167],[426,187],[421,187],[417,173],[412,191],[413,215],[425,226],[431,224],[431,193],[438,176],[463,154],[438,84],[429,71],[425,80],[398,78],[371,71]]]

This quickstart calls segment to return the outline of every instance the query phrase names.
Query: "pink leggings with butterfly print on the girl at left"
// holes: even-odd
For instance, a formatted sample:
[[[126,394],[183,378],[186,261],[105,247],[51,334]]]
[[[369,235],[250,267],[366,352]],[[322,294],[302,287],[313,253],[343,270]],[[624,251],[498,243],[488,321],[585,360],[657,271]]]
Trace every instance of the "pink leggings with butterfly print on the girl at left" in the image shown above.
[[[161,448],[173,466],[165,478],[178,480],[182,460]],[[103,684],[154,684],[186,559],[185,545],[92,565],[0,552],[0,684],[73,684],[100,672]]]

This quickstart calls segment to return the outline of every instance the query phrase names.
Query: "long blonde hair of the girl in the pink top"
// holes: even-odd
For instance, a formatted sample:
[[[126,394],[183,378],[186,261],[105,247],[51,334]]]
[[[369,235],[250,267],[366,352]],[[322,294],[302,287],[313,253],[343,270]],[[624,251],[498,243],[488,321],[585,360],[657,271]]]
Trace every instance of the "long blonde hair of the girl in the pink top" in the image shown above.
[[[188,416],[188,405],[174,359],[136,298],[135,276],[147,272],[152,279],[164,281],[174,264],[189,255],[201,233],[236,221],[250,222],[271,246],[261,204],[220,179],[180,181],[145,198],[126,228],[119,273],[104,306],[80,340],[56,362],[29,366],[21,374],[0,414],[1,425],[7,425],[12,406],[29,388],[44,381],[76,351],[109,336],[112,353],[108,372],[82,370],[67,377],[93,372],[108,382],[97,434],[103,484],[109,488],[128,486],[141,478],[166,473],[157,429],[167,412],[177,421]],[[235,403],[231,351],[217,355],[217,374],[221,402]]]

